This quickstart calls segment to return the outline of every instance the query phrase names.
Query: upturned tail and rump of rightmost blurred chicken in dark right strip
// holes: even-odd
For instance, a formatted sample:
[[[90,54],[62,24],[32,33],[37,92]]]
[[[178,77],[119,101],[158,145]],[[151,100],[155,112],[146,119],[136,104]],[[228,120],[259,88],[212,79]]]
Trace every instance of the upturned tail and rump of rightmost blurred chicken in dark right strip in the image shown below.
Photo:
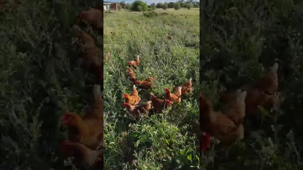
[[[261,77],[254,85],[268,95],[273,95],[278,91],[278,63],[269,68],[269,71]]]

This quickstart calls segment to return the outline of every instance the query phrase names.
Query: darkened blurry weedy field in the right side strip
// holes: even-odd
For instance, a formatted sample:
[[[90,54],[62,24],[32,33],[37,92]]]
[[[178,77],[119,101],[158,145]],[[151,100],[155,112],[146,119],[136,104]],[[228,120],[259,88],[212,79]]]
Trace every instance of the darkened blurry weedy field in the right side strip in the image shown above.
[[[302,169],[302,3],[207,0],[200,8],[201,92],[217,105],[220,92],[278,62],[280,93],[278,109],[261,109],[255,124],[245,120],[244,140],[203,152],[200,169]]]

